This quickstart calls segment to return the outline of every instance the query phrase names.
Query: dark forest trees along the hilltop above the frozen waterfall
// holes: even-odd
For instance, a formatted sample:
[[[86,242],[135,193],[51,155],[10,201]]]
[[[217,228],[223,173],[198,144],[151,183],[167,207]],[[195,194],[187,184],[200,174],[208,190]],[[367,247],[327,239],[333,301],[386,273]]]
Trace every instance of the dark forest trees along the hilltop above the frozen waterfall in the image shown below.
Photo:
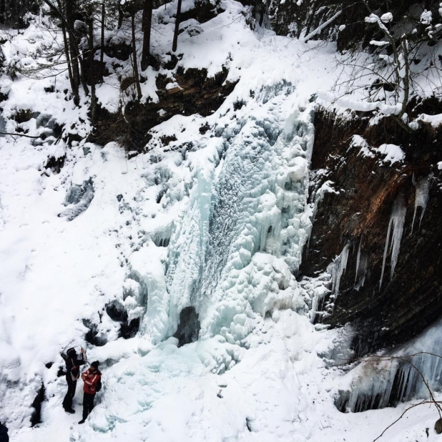
[[[11,60],[3,63],[3,75],[11,79],[20,74],[41,78],[60,75],[67,69],[68,99],[79,105],[80,94],[88,97],[89,118],[96,128],[94,139],[103,143],[129,131],[122,144],[129,150],[143,149],[148,138],[145,134],[137,136],[127,126],[130,115],[143,111],[137,103],[142,102],[141,84],[146,81],[146,69],[151,67],[157,72],[161,68],[173,69],[180,59],[180,35],[198,34],[201,23],[222,12],[219,0],[197,0],[193,9],[184,11],[181,0],[176,2],[170,18],[174,22],[172,44],[170,51],[162,53],[164,49],[159,50],[151,42],[152,33],[161,34],[158,20],[164,17],[153,19],[152,11],[165,5],[162,0],[1,0],[0,21],[5,25],[20,32],[37,20],[39,26],[54,33],[54,44],[47,44],[36,54],[36,58],[44,61],[37,60],[31,66],[23,65],[22,60]],[[423,98],[440,94],[442,56],[438,43],[442,37],[442,7],[439,1],[242,0],[242,3],[252,29],[265,26],[277,35],[319,40],[318,44],[335,41],[338,51],[346,55],[341,59],[342,69],[351,71],[342,83],[337,83],[340,96],[362,87],[355,80],[367,77],[369,81],[363,86],[362,103],[348,104],[351,110],[377,110],[392,115],[402,129],[412,131],[417,127],[411,117],[412,109]],[[362,65],[361,59],[356,60],[352,55],[356,52],[359,56],[365,52],[372,58]],[[121,93],[127,97],[118,110],[119,117],[110,117],[103,111],[96,96],[97,85],[115,71],[116,66],[109,65],[109,58],[121,59],[128,65],[118,74]],[[434,85],[430,94],[418,80],[422,76]],[[202,77],[200,81],[203,80]],[[109,121],[107,125],[103,123],[105,120],[112,120],[113,130],[109,130]],[[100,123],[105,125],[107,135],[100,130]]]

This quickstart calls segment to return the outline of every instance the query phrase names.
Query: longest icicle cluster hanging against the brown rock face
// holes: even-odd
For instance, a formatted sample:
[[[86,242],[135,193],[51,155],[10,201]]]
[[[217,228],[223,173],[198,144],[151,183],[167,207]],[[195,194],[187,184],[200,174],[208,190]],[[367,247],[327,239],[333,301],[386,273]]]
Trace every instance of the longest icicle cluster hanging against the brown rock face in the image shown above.
[[[398,262],[399,249],[401,247],[403,223],[405,221],[405,214],[407,208],[405,206],[405,199],[403,195],[398,195],[393,203],[393,208],[391,211],[390,222],[388,223],[387,239],[385,240],[385,248],[383,252],[382,260],[382,272],[381,280],[379,281],[379,290],[382,287],[382,278],[385,269],[385,261],[387,258],[388,244],[390,241],[390,232],[393,230],[391,235],[390,253],[391,253],[391,271],[390,279],[393,278],[394,270]]]

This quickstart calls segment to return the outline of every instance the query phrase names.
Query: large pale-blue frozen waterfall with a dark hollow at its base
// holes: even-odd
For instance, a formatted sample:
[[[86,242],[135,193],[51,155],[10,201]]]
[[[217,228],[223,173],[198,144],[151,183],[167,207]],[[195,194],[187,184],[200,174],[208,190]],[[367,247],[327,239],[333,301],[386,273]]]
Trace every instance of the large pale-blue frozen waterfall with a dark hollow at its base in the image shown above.
[[[187,154],[188,204],[174,222],[164,275],[148,277],[141,330],[152,342],[173,335],[188,306],[201,337],[229,342],[247,336],[257,314],[307,309],[293,275],[311,228],[313,108],[291,108],[294,91],[285,82],[262,87],[247,113],[218,121],[212,144]],[[162,176],[167,197],[172,174]]]

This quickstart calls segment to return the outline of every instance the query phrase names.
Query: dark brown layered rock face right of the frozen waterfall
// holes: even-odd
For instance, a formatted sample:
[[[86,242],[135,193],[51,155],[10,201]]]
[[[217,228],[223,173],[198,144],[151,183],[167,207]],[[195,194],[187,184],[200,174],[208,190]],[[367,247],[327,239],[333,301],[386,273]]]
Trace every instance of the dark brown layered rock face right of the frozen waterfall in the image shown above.
[[[442,170],[437,165],[442,130],[423,127],[409,134],[389,119],[368,126],[367,120],[336,121],[323,111],[316,115],[315,128],[311,198],[326,181],[338,193],[325,193],[318,203],[301,273],[325,271],[347,246],[339,293],[336,300],[333,294],[323,300],[326,314],[317,320],[332,326],[351,322],[357,330],[353,349],[362,355],[404,342],[442,316]],[[400,145],[404,159],[391,164],[382,151],[370,148],[363,155],[361,146],[352,146],[354,135],[372,147]],[[422,215],[419,206],[414,216],[416,198],[422,200],[419,189],[426,183],[426,207]],[[395,204],[406,210],[402,240],[391,275],[392,221],[381,284]]]

